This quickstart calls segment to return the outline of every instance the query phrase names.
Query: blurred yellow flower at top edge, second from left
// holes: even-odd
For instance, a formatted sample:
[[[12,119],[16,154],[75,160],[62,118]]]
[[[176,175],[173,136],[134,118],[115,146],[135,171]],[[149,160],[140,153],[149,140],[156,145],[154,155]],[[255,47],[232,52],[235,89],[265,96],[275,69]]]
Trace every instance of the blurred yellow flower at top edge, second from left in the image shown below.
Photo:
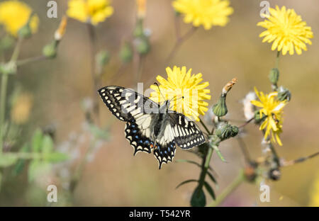
[[[82,22],[96,26],[113,14],[108,0],[70,0],[67,15]]]

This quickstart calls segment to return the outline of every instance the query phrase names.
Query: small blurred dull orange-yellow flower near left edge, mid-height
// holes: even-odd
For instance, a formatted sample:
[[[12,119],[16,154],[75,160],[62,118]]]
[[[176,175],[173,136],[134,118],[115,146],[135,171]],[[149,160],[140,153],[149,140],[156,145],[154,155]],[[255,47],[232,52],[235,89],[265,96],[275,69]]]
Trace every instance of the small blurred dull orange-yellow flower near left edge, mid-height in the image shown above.
[[[26,123],[29,119],[31,107],[33,105],[33,96],[30,94],[21,94],[13,102],[11,108],[11,120],[17,125]]]

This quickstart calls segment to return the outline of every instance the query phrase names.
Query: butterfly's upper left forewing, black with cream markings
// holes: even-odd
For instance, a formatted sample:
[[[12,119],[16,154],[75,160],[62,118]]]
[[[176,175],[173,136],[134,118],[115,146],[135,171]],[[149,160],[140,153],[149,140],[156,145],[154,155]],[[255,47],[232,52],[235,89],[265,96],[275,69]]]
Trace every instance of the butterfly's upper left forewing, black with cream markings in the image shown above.
[[[99,89],[99,95],[118,120],[130,122],[159,109],[154,101],[122,86],[105,86]]]

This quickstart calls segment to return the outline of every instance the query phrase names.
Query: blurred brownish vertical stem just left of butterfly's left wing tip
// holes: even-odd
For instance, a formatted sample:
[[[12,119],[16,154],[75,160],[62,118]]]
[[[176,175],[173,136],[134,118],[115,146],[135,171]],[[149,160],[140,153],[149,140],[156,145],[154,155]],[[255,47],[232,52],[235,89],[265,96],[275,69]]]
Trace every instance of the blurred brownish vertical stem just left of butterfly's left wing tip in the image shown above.
[[[88,33],[89,33],[89,42],[90,42],[90,50],[91,50],[91,77],[92,77],[92,99],[94,102],[94,115],[96,117],[96,124],[99,125],[99,102],[98,96],[96,95],[96,91],[98,90],[98,82],[99,79],[96,76],[96,69],[95,69],[95,55],[96,55],[96,34],[94,31],[94,26],[91,23],[86,24]]]

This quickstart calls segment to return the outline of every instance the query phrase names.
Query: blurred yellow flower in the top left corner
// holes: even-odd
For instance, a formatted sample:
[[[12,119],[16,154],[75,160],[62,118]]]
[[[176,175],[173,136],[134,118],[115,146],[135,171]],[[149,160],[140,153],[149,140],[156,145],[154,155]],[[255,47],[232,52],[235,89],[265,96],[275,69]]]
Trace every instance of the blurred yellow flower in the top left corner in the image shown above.
[[[18,35],[18,30],[26,25],[31,16],[32,9],[22,1],[3,1],[0,3],[0,24],[13,36]],[[39,18],[33,15],[30,19],[32,33],[38,30]]]

